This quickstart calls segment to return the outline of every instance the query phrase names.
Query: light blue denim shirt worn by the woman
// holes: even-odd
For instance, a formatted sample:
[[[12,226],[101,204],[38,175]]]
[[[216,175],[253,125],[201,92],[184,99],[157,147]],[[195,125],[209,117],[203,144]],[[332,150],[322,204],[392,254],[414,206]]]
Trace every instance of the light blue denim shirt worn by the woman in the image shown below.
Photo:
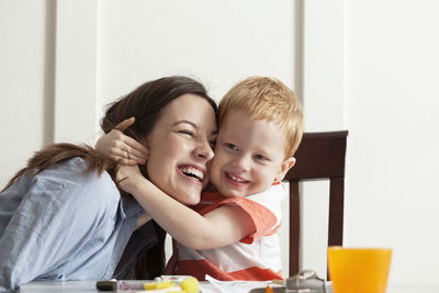
[[[0,292],[37,280],[106,280],[142,206],[72,158],[0,193]]]

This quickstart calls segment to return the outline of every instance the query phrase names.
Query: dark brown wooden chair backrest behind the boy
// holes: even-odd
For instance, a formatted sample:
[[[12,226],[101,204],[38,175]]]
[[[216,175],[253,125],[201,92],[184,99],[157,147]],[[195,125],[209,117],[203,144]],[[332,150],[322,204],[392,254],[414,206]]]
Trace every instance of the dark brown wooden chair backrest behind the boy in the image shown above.
[[[342,245],[347,136],[347,131],[304,133],[302,143],[294,155],[296,164],[284,178],[290,182],[290,275],[299,272],[300,181],[329,179],[328,246]]]

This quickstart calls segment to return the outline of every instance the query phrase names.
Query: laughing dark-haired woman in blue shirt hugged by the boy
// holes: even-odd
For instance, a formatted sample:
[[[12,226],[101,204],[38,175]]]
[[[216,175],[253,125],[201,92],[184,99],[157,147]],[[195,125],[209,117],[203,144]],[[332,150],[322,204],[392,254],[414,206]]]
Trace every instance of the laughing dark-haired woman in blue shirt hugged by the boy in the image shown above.
[[[191,170],[206,174],[216,112],[202,84],[169,77],[146,82],[112,104],[101,126],[108,133],[134,116],[125,133],[150,151],[143,173],[180,202],[194,204],[207,177],[195,179]],[[161,255],[151,247],[164,234],[158,237],[138,203],[119,191],[114,168],[88,146],[56,144],[18,172],[0,194],[0,292],[34,280],[128,275],[139,253]],[[147,255],[146,260],[162,268],[162,258]],[[160,271],[149,273],[145,278]]]

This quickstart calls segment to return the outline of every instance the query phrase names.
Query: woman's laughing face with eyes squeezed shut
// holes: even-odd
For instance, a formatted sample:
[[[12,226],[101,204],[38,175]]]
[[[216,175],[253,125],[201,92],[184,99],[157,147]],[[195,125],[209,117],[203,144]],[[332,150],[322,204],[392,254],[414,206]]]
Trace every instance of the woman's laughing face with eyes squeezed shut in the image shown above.
[[[212,105],[195,94],[170,102],[147,137],[147,172],[161,191],[196,204],[209,181],[217,127]]]

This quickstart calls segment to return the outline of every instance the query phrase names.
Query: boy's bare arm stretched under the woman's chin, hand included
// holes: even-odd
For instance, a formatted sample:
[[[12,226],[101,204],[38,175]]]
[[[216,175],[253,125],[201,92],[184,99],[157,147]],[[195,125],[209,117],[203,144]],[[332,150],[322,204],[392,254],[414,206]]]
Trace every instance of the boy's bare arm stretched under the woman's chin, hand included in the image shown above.
[[[166,232],[192,249],[237,243],[256,229],[250,216],[239,206],[221,206],[204,216],[200,215],[145,179],[137,166],[120,166],[117,178],[124,178],[120,187],[133,194]]]

